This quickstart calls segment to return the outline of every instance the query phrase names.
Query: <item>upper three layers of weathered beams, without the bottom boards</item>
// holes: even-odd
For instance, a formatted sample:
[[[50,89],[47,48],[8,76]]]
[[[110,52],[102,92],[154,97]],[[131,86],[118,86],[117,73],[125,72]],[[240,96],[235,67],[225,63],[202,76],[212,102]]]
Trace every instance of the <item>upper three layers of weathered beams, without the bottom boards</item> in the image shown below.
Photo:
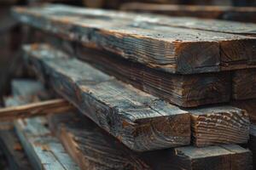
[[[247,143],[256,25],[64,5],[13,14],[31,27],[24,59],[39,79],[131,150]]]

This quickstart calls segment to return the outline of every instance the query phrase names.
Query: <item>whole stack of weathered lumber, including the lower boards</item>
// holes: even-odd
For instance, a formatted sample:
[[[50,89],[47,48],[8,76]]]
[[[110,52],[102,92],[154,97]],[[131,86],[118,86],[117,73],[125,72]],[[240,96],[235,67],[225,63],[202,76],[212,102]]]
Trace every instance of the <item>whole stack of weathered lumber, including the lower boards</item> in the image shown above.
[[[81,169],[253,169],[256,25],[63,5],[13,12],[32,27],[26,65],[76,108],[15,122],[33,167],[71,156]]]

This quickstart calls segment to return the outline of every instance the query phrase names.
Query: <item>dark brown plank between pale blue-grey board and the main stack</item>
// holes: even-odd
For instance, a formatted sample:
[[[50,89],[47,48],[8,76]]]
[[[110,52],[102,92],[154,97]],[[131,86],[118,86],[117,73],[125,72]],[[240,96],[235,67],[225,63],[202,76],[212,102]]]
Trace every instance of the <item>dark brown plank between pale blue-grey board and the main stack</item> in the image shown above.
[[[49,116],[49,127],[81,169],[151,169],[137,153],[76,112]]]

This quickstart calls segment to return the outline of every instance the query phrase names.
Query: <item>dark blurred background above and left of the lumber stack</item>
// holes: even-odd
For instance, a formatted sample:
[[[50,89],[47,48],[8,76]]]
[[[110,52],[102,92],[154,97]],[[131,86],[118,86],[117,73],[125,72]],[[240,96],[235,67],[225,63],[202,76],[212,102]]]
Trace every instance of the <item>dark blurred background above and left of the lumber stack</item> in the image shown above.
[[[255,0],[0,0],[0,96],[9,94],[9,81],[11,78],[24,77],[25,75],[30,76],[29,73],[23,69],[22,59],[20,59],[20,44],[26,42],[28,38],[26,35],[26,27],[20,26],[17,21],[12,18],[10,9],[13,6],[32,6],[42,3],[65,3],[89,8],[133,10],[134,5],[132,7],[131,3],[136,4],[136,2],[161,4],[162,6],[160,8],[170,4],[207,5],[210,7],[217,6],[218,8],[226,6],[253,7],[256,5]],[[203,6],[202,8],[205,7]],[[169,15],[179,14],[177,14],[176,11],[175,13],[169,13]],[[193,14],[183,12],[182,15],[189,16]],[[253,18],[255,17],[253,16]],[[0,98],[0,102],[1,101],[2,98]]]

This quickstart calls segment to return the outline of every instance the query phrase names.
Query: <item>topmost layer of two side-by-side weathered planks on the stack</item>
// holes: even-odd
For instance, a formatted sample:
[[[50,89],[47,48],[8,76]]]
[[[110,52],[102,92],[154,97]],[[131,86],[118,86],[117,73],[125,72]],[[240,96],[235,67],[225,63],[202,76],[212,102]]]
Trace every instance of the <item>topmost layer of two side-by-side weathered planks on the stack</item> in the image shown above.
[[[166,19],[156,22],[158,18],[154,20],[147,15],[131,20],[135,15],[109,12],[105,16],[107,11],[67,6],[15,8],[14,11],[15,17],[28,25],[162,71],[189,74],[255,66],[256,37],[180,28],[186,26],[183,22],[177,28],[159,24],[168,23]],[[214,27],[212,23],[209,25]],[[245,32],[242,30],[252,33],[253,26],[243,27],[240,33]],[[234,32],[239,33],[237,29]]]

